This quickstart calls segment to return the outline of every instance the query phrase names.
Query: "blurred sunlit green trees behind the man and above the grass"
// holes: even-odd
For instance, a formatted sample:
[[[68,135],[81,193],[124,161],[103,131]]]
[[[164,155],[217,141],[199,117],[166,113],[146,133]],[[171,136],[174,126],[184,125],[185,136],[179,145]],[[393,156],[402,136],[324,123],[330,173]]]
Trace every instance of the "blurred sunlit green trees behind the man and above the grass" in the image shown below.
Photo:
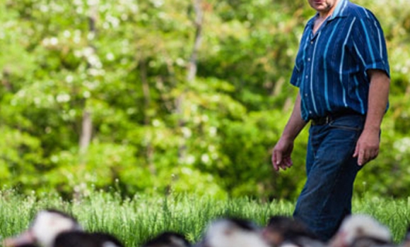
[[[410,6],[357,0],[385,31],[392,72],[380,155],[356,192],[410,193]],[[186,192],[293,200],[270,164],[307,1],[4,0],[0,182],[62,195]]]

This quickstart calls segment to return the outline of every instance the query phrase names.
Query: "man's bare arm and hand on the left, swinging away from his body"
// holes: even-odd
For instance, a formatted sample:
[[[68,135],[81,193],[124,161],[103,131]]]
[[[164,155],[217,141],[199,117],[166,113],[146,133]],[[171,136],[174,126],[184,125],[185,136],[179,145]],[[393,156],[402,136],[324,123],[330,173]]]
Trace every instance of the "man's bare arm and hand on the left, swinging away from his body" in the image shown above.
[[[286,123],[281,138],[272,151],[272,165],[276,171],[279,171],[279,169],[285,170],[292,166],[293,141],[305,125],[306,122],[302,119],[300,111],[300,93],[298,93],[291,117],[288,123]]]

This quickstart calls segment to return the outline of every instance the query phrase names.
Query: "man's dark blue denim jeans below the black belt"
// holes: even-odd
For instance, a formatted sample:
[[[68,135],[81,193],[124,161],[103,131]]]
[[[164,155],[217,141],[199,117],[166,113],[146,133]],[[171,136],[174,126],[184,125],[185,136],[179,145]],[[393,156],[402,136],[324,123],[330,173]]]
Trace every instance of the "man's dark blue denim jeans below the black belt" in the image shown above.
[[[323,241],[328,241],[351,213],[353,183],[361,169],[353,153],[364,122],[365,116],[346,115],[310,126],[307,181],[293,217]]]

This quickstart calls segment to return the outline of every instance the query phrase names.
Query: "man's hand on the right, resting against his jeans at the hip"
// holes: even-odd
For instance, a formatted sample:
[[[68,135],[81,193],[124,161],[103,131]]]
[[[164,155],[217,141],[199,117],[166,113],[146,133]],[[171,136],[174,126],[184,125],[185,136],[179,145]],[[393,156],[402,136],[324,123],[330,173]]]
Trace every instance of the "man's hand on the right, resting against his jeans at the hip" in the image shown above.
[[[375,159],[379,154],[380,146],[380,131],[363,130],[358,142],[353,157],[358,157],[358,165],[363,166],[370,160]]]

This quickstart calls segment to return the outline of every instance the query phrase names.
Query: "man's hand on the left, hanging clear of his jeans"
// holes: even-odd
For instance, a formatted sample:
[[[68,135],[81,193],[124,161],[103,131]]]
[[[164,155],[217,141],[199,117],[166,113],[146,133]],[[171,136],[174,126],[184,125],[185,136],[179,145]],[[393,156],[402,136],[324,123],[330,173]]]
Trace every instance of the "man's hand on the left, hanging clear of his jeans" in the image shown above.
[[[293,141],[279,139],[272,151],[272,165],[275,171],[286,170],[292,166],[291,154],[293,151]]]

